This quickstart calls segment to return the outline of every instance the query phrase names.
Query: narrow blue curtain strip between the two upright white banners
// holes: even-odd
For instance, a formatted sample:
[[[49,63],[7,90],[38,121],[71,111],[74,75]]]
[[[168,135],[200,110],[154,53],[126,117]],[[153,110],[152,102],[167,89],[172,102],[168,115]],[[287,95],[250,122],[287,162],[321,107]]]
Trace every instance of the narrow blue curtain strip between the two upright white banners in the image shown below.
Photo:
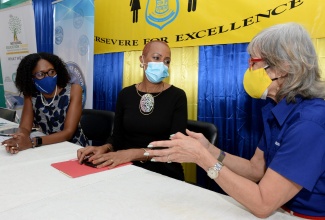
[[[53,53],[52,0],[33,0],[37,52]]]

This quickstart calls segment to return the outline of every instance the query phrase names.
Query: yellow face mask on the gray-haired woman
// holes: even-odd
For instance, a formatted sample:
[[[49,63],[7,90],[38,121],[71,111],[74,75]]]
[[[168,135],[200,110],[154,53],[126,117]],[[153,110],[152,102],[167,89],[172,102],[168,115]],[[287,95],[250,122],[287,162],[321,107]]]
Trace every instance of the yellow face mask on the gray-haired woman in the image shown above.
[[[255,99],[266,99],[267,88],[271,85],[272,79],[267,75],[267,67],[251,70],[248,68],[244,75],[244,89],[249,96]]]

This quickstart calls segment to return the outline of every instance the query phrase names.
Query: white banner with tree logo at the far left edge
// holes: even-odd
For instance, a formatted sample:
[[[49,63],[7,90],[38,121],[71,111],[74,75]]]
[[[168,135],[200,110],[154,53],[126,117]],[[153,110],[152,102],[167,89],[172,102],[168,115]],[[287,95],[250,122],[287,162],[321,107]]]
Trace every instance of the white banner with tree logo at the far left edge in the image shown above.
[[[32,3],[0,10],[0,30],[0,56],[6,106],[21,110],[23,97],[18,94],[15,86],[16,70],[24,56],[37,52]]]

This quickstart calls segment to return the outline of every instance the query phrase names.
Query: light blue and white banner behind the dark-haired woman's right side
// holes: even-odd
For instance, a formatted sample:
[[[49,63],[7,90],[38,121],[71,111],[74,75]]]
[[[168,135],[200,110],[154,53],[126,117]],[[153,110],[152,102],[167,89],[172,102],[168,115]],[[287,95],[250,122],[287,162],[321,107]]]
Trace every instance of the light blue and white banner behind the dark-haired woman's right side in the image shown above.
[[[71,82],[81,85],[83,107],[92,108],[94,1],[64,0],[54,9],[54,53],[66,62]]]

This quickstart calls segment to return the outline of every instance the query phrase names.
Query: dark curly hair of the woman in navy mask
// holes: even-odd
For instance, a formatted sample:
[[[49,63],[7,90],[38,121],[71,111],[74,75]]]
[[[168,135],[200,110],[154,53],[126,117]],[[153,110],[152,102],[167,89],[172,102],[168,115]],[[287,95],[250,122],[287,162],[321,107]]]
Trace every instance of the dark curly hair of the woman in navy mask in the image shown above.
[[[25,56],[18,65],[15,85],[24,96],[31,96],[36,92],[32,72],[41,59],[51,63],[57,73],[57,86],[64,88],[70,81],[70,74],[66,64],[57,55],[50,53],[33,53]]]

